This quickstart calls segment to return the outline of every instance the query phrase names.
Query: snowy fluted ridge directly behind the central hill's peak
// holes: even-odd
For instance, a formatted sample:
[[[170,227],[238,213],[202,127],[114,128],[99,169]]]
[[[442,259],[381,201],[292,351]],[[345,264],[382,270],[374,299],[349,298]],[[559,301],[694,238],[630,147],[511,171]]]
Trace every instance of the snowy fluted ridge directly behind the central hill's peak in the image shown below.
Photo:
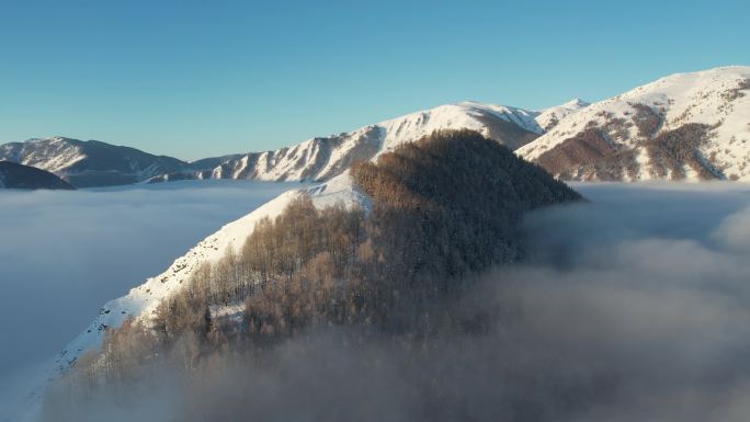
[[[174,172],[151,179],[163,182],[183,179],[255,179],[265,181],[325,181],[341,174],[356,160],[370,160],[384,151],[440,129],[471,129],[510,149],[516,149],[544,133],[544,125],[583,107],[570,102],[550,113],[463,102],[408,114],[350,133],[306,140],[275,151],[252,152],[227,160],[213,170]],[[557,117],[556,117],[557,116]]]

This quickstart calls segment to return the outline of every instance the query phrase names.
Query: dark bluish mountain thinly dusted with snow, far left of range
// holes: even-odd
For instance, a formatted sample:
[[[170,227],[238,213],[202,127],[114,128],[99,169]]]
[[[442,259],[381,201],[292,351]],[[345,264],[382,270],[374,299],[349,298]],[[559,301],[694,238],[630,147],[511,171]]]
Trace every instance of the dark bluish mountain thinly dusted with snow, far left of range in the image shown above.
[[[216,158],[188,163],[135,148],[64,137],[0,145],[0,160],[46,170],[78,187],[137,183],[167,172],[211,168],[221,161]]]

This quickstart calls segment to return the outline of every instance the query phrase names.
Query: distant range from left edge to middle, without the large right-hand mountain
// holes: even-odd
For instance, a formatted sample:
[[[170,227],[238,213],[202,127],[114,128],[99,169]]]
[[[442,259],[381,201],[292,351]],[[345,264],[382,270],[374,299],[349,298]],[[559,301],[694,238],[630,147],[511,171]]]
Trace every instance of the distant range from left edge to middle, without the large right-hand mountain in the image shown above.
[[[308,139],[273,151],[185,162],[135,148],[65,137],[0,145],[0,159],[50,171],[78,187],[188,179],[325,181],[356,160],[370,160],[438,129],[473,129],[516,149],[569,113],[588,105],[571,101],[545,112],[464,102],[408,114],[360,129]]]

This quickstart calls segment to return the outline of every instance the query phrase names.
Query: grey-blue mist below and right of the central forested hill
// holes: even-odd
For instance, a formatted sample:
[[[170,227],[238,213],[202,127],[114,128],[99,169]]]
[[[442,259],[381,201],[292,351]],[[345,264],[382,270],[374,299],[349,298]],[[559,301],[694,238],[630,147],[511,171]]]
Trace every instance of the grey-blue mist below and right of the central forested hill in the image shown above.
[[[312,327],[193,374],[172,354],[73,408],[56,396],[48,420],[743,421],[750,189],[573,187],[589,202],[524,219],[524,264],[451,304],[477,330]]]

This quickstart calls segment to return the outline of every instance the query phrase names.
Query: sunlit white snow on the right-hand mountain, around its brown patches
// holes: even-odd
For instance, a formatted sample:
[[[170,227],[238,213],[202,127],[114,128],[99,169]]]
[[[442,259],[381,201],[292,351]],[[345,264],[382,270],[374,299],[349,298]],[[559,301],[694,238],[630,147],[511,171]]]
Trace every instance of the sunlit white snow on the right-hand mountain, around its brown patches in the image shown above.
[[[671,179],[674,171],[658,171],[657,168],[663,164],[652,162],[652,153],[646,144],[688,124],[704,124],[711,126],[709,136],[698,142],[696,159],[719,179],[750,181],[749,90],[750,67],[721,67],[672,75],[573,113],[516,152],[525,159],[544,162],[539,159],[545,152],[587,128],[599,128],[605,133],[604,137],[614,150],[632,151],[635,157],[634,166],[638,170],[623,179]],[[639,105],[647,106],[660,121],[657,132],[650,137],[639,133],[635,124]],[[683,167],[688,180],[701,179],[694,166],[683,163]],[[578,173],[570,179],[587,178],[601,179],[592,173]]]

